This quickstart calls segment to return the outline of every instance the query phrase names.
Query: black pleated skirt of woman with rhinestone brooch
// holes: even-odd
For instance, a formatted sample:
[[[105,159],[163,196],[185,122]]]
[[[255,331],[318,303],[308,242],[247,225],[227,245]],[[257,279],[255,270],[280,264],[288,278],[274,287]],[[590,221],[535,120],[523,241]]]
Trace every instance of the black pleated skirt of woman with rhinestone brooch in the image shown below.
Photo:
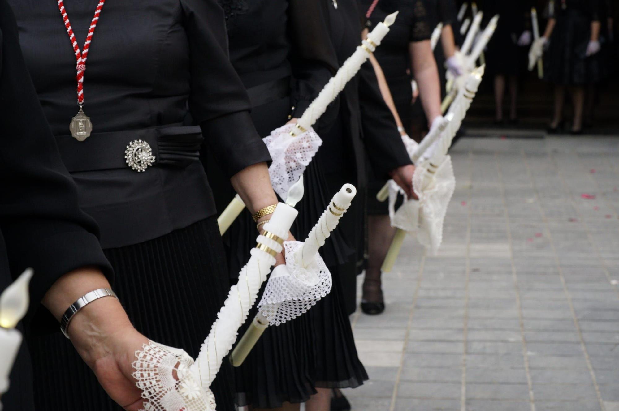
[[[107,249],[113,285],[136,329],[196,358],[228,292],[215,217],[144,243]],[[38,411],[119,411],[60,332],[30,337]],[[212,384],[217,410],[235,410],[232,366]]]

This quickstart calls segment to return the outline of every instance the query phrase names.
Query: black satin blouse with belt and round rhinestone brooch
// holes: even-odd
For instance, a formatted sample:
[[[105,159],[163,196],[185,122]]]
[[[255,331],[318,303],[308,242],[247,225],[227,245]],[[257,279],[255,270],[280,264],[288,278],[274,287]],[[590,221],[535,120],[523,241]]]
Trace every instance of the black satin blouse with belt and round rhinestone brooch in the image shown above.
[[[28,69],[80,205],[95,217],[104,248],[165,235],[215,214],[197,161],[202,137],[228,176],[269,154],[227,53],[215,0],[125,0],[103,6],[84,77],[93,134],[77,142],[76,60],[55,1],[9,0]],[[97,0],[64,1],[80,48]],[[193,123],[191,123],[193,121]],[[126,145],[149,142],[155,167],[137,173]]]

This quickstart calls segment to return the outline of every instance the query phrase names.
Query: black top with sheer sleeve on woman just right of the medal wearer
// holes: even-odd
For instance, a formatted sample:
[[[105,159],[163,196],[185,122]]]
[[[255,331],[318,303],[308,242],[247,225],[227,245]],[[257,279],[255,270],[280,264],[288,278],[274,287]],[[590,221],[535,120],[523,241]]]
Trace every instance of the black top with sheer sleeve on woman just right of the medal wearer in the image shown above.
[[[292,116],[300,117],[338,67],[321,17],[326,7],[318,0],[219,2],[226,14],[230,61],[245,87],[290,79]],[[253,90],[249,94],[253,97]]]

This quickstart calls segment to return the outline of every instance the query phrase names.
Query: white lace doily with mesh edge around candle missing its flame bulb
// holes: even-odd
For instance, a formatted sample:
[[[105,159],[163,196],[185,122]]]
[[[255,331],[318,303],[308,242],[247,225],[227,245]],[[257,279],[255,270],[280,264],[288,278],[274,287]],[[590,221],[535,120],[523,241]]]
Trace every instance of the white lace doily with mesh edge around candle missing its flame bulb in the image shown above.
[[[287,270],[274,270],[258,304],[271,326],[297,318],[331,292],[331,272],[322,257],[316,253],[314,261],[304,268],[301,253],[297,253],[302,246],[300,241],[284,242]]]

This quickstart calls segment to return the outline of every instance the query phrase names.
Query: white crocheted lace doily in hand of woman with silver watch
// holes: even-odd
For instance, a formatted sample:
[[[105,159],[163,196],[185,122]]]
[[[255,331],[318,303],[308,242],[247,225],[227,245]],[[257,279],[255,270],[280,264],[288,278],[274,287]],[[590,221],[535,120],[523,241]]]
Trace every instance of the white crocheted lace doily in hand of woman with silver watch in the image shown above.
[[[194,360],[180,348],[150,341],[136,351],[133,376],[142,390],[144,411],[215,411],[215,397],[189,368]]]

